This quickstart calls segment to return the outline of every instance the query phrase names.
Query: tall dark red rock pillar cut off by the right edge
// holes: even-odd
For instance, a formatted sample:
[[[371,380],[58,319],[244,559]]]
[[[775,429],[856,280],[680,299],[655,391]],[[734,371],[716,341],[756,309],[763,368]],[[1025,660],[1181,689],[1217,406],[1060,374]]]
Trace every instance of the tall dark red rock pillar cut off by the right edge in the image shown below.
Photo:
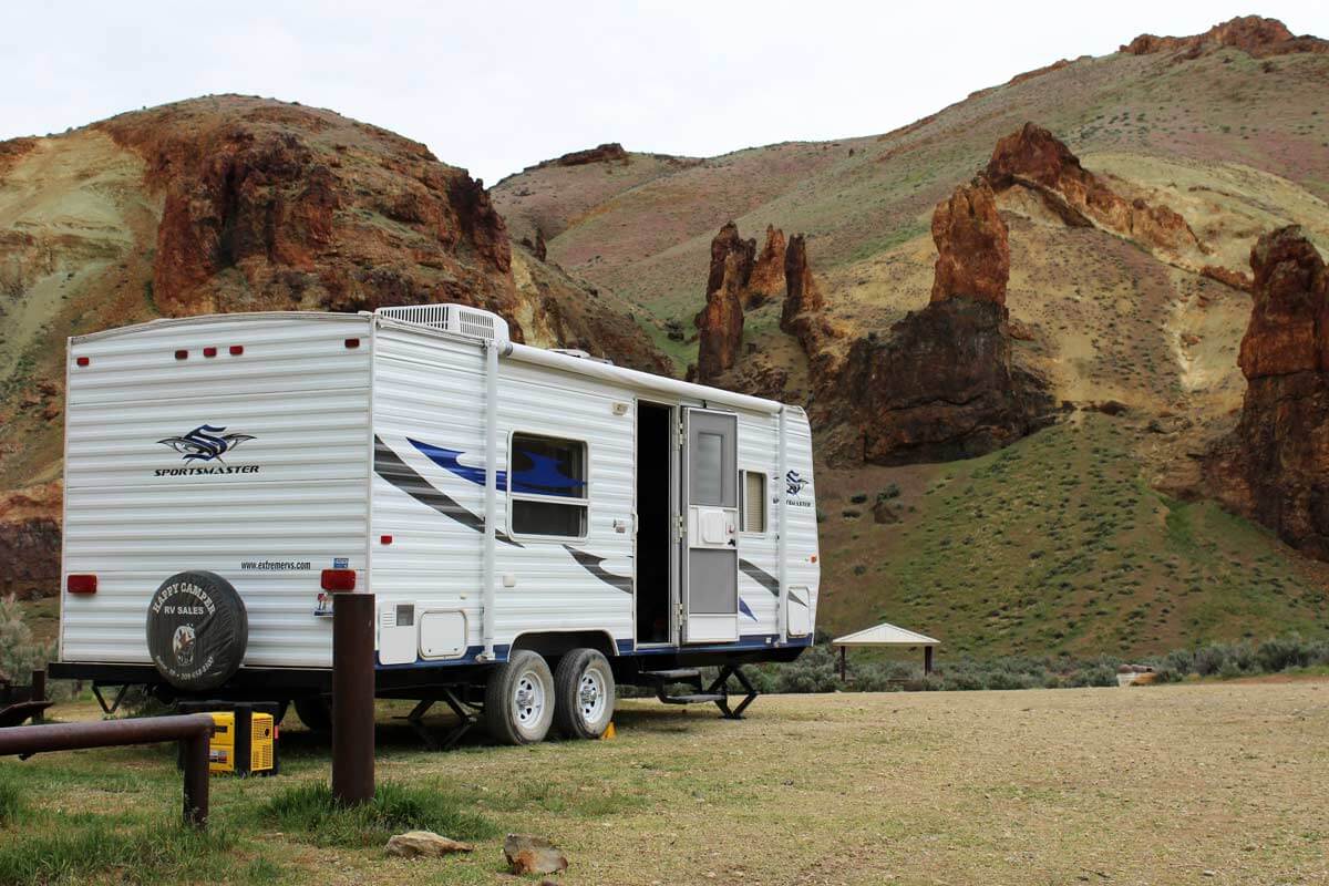
[[[1247,393],[1205,477],[1224,505],[1329,561],[1329,271],[1296,226],[1261,236],[1251,270]]]

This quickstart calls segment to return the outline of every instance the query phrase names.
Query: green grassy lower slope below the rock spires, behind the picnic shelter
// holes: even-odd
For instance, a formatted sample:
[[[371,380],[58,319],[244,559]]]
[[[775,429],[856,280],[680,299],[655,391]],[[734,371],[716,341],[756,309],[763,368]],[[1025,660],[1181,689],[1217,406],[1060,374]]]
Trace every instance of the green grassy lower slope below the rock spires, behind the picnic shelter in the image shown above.
[[[889,620],[974,655],[1322,632],[1324,566],[1211,502],[1151,489],[1142,433],[1083,413],[971,461],[820,476],[825,627]],[[878,495],[898,523],[874,522]]]

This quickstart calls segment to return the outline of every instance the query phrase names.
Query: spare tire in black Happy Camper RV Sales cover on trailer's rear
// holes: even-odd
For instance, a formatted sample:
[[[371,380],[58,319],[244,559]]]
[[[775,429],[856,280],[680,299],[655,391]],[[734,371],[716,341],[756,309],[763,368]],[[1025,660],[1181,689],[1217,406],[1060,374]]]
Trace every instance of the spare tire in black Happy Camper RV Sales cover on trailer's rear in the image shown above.
[[[178,689],[215,689],[245,659],[249,615],[231,583],[215,573],[175,573],[148,604],[148,652]]]

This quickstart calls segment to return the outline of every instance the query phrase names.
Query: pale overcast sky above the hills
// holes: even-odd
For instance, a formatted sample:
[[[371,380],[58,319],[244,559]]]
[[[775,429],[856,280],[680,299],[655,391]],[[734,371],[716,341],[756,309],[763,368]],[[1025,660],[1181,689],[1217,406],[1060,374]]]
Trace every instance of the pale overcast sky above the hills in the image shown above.
[[[1325,0],[29,0],[0,28],[0,139],[234,92],[377,124],[493,185],[606,141],[714,155],[881,133],[1061,57],[1251,12],[1329,37]]]

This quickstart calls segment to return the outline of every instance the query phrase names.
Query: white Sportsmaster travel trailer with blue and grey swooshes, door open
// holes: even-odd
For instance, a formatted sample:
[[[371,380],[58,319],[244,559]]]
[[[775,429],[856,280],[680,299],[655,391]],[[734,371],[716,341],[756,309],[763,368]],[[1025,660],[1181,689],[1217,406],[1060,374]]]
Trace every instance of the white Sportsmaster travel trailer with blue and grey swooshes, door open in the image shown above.
[[[799,406],[514,344],[452,304],[68,348],[57,676],[316,721],[332,595],[371,591],[381,696],[488,687],[490,729],[533,741],[556,711],[598,735],[615,679],[812,643]]]

